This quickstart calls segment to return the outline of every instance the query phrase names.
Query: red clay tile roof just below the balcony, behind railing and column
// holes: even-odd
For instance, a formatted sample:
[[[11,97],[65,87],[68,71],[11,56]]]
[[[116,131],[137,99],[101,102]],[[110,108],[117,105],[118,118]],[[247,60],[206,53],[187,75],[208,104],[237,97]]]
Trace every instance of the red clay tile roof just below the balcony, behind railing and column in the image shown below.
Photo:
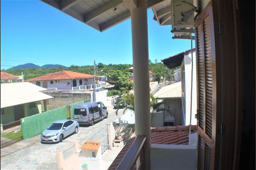
[[[191,126],[191,134],[195,133],[197,126]],[[188,145],[189,126],[166,126],[151,128],[151,143],[165,145]],[[110,165],[109,170],[117,169],[126,152],[133,144],[135,137],[131,138]]]

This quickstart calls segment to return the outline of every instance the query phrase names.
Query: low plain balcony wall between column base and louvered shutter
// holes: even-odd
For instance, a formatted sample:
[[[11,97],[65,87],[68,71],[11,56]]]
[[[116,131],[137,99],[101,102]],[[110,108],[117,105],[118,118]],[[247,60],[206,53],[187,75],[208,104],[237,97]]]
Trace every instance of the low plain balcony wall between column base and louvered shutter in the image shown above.
[[[158,145],[150,149],[151,169],[196,169],[196,145]]]

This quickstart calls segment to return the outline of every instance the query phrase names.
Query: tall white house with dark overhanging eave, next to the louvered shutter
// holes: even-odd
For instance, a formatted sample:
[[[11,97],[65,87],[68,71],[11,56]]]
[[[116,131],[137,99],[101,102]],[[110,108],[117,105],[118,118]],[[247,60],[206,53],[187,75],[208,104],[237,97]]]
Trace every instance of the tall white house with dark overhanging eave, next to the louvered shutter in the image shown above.
[[[169,67],[174,69],[180,66],[180,70],[176,70],[176,73],[181,74],[181,107],[183,113],[184,125],[190,124],[191,105],[192,105],[192,117],[191,124],[196,125],[196,110],[197,110],[197,84],[196,84],[196,52],[193,49],[193,57],[191,57],[191,50],[176,54],[175,56],[163,59],[162,62]],[[191,59],[193,58],[193,59]],[[193,70],[192,70],[193,63]],[[192,80],[192,82],[191,82]],[[192,97],[191,97],[192,91]]]

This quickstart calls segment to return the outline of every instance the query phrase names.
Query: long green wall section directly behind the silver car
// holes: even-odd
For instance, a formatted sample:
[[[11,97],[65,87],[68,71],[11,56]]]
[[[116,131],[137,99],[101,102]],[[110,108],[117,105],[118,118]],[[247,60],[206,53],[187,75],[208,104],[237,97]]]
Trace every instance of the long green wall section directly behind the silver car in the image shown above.
[[[23,140],[42,133],[52,122],[66,118],[66,107],[21,118],[20,125]]]

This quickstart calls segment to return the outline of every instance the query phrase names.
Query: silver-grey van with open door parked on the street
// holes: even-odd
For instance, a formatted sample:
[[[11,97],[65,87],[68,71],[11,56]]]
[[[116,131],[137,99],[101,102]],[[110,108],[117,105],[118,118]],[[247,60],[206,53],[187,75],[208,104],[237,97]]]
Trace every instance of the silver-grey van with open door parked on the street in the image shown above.
[[[73,120],[76,120],[81,125],[93,125],[94,122],[107,117],[108,110],[101,101],[74,106]]]

